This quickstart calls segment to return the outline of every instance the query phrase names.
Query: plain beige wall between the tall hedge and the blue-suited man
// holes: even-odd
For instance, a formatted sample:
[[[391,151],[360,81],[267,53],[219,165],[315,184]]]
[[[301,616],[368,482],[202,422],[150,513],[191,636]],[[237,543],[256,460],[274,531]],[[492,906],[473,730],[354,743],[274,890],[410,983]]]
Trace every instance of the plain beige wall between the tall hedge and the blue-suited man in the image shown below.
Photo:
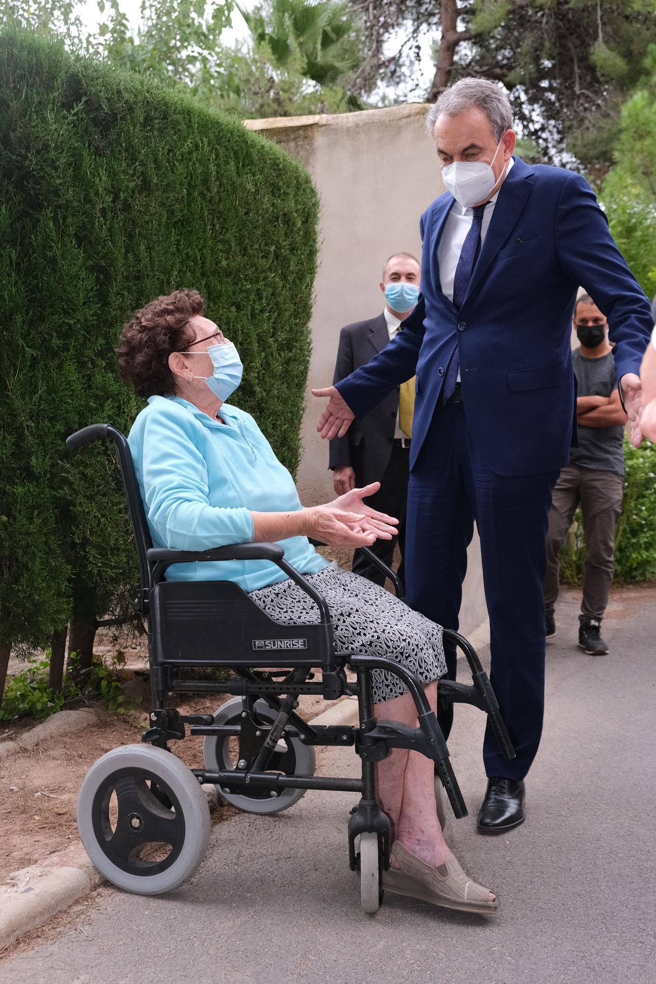
[[[332,496],[328,446],[316,431],[323,404],[310,390],[332,382],[339,329],[384,308],[379,288],[388,256],[421,255],[419,216],[444,190],[423,104],[337,115],[248,120],[310,171],[322,202],[320,266],[312,319],[313,354],[298,473],[306,505]],[[469,549],[461,630],[487,619],[478,538]]]

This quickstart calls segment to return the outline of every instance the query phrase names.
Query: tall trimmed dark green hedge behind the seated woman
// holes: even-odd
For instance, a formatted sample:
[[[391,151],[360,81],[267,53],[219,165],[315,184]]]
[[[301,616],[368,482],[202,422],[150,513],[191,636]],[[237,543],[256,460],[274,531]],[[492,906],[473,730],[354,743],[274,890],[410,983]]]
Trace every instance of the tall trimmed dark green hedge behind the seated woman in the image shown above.
[[[0,648],[134,597],[111,452],[70,461],[64,441],[96,421],[129,430],[141,403],[114,348],[151,298],[208,298],[245,364],[235,402],[295,470],[317,222],[308,174],[239,122],[0,32]]]

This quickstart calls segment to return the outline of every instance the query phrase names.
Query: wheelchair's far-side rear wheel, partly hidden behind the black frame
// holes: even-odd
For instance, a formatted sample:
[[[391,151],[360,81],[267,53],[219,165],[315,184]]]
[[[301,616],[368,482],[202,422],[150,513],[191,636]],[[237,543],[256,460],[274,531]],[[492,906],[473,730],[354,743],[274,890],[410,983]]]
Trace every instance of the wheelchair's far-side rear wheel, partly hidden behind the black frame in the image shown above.
[[[263,721],[272,724],[275,720],[275,711],[268,707],[266,701],[256,701],[255,711]],[[222,704],[214,714],[215,724],[239,724],[243,703],[241,697],[233,697],[231,700]],[[232,741],[234,748],[231,747]],[[205,768],[208,771],[217,772],[225,769],[235,769],[237,766],[237,745],[238,739],[229,737],[216,737],[208,735],[203,744],[203,756]],[[298,738],[281,738],[277,743],[276,749],[268,763],[268,772],[283,772],[285,775],[314,775],[315,774],[315,749],[312,745],[304,745]],[[248,795],[235,793],[227,789],[216,787],[226,802],[243,810],[245,813],[274,814],[282,810],[288,810],[294,803],[298,803],[300,798],[305,795],[305,789],[281,789],[277,796],[271,796],[268,791],[252,792]]]

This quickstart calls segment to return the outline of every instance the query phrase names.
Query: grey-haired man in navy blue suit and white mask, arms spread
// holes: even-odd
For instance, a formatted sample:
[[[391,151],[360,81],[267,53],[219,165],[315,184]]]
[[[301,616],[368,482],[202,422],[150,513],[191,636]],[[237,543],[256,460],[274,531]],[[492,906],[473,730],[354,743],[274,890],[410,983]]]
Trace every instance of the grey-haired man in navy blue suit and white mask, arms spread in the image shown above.
[[[498,833],[524,820],[523,780],[542,731],[545,537],[575,440],[576,291],[582,285],[608,319],[635,443],[651,310],[584,178],[512,156],[505,92],[462,79],[440,96],[427,125],[447,192],[421,216],[417,306],[368,365],[314,393],[329,397],[318,430],[330,438],[416,376],[407,600],[457,629],[476,522],[492,681],[517,753],[506,762],[488,727],[478,830]],[[447,665],[454,677],[454,650]],[[442,723],[448,733],[447,715]]]

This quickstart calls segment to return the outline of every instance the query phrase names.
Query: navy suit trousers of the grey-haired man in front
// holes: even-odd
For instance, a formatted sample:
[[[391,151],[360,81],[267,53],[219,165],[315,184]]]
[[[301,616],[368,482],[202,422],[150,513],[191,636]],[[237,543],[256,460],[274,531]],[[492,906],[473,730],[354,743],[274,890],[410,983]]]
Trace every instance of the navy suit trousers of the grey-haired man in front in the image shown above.
[[[473,448],[464,404],[439,406],[410,474],[405,531],[407,600],[458,628],[467,545],[478,527],[490,615],[491,680],[516,759],[506,762],[488,726],[487,774],[522,779],[535,758],[544,711],[546,535],[557,471],[504,476]],[[456,652],[447,650],[455,679]],[[440,722],[447,735],[452,708]]]

